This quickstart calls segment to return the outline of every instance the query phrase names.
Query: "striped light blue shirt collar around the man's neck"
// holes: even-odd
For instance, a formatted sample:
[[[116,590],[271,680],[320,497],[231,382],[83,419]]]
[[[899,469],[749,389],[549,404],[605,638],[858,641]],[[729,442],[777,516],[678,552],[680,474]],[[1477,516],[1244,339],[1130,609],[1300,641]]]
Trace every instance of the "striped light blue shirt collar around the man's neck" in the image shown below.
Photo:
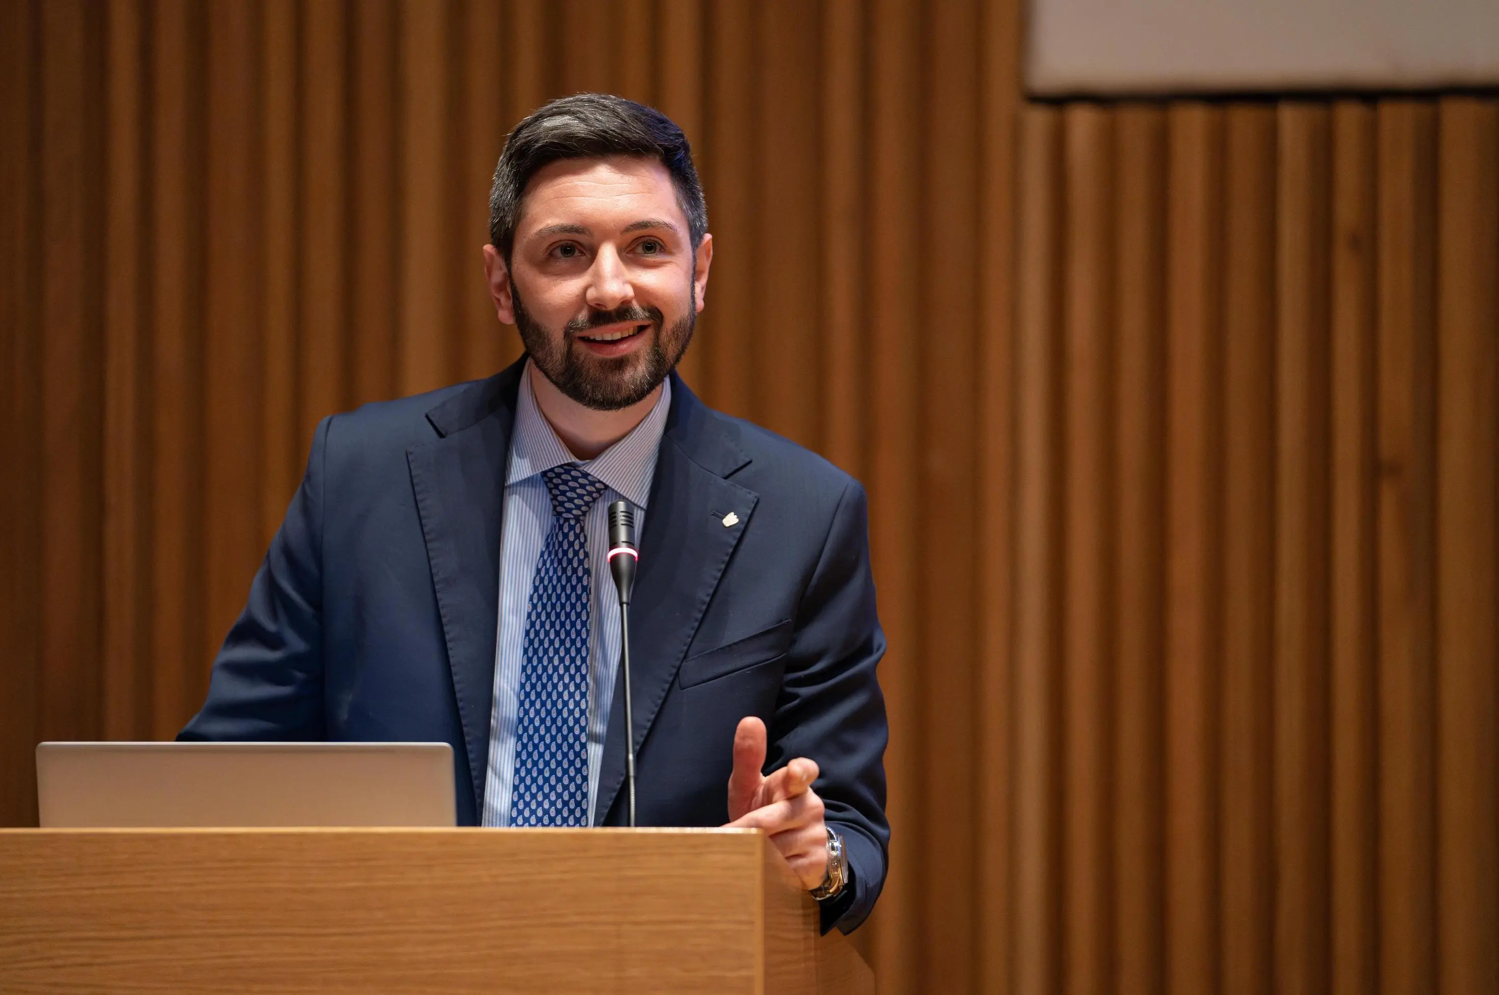
[[[657,451],[661,448],[661,433],[666,432],[666,417],[672,409],[672,379],[661,384],[661,394],[649,414],[630,430],[624,439],[600,453],[592,460],[579,460],[558,438],[552,423],[537,408],[531,391],[531,361],[520,372],[520,394],[516,403],[516,429],[510,438],[510,471],[505,486],[516,484],[553,466],[577,463],[598,480],[604,481],[621,498],[646,506],[651,493],[651,478],[655,474]]]

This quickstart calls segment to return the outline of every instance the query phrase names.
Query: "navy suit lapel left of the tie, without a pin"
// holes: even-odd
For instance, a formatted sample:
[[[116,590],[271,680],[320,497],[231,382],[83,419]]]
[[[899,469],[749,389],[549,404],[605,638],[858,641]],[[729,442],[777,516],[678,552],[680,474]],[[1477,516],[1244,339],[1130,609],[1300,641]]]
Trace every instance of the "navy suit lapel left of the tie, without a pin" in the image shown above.
[[[520,366],[429,412],[442,438],[406,450],[478,820],[489,770],[499,533]]]

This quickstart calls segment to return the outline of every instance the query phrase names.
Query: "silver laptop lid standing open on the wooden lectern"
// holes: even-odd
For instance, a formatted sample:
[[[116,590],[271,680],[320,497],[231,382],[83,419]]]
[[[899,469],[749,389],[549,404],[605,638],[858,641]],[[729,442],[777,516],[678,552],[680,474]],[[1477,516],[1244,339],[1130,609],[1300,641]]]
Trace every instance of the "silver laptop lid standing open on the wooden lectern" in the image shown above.
[[[42,829],[453,826],[447,743],[40,743]]]

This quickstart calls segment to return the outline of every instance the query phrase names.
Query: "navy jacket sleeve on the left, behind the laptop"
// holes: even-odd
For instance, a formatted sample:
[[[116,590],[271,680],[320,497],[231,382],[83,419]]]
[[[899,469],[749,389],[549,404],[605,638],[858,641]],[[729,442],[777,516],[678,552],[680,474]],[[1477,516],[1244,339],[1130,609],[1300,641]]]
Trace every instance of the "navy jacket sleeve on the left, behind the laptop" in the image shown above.
[[[208,698],[178,740],[324,739],[322,471],[330,423],[324,418],[313,433],[307,472],[213,664]]]

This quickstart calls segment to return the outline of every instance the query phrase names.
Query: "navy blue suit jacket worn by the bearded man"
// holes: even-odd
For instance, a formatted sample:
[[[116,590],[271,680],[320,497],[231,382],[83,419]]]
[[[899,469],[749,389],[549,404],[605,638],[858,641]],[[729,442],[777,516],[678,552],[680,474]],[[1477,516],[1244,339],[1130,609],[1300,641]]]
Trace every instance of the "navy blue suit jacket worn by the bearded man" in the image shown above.
[[[180,739],[447,742],[459,823],[478,821],[522,370],[318,426]],[[735,727],[757,715],[767,770],[793,757],[821,770],[814,787],[854,878],[823,926],[853,929],[889,842],[863,489],[673,379],[648,508],[631,602],[637,821],[726,823]],[[739,523],[724,526],[730,511]],[[610,710],[595,824],[624,823],[624,715]]]

